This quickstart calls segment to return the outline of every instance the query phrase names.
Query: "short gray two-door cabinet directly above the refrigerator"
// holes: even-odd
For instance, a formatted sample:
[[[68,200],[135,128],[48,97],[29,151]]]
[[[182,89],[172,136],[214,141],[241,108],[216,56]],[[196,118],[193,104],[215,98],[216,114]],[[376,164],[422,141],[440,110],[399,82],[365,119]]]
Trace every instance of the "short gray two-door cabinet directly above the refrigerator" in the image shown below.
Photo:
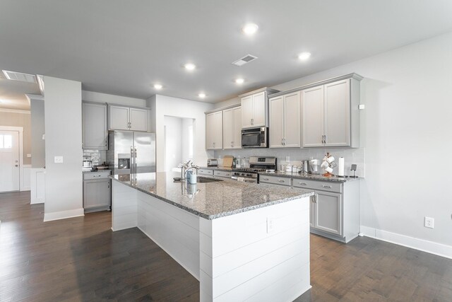
[[[148,131],[148,110],[109,105],[109,129]]]

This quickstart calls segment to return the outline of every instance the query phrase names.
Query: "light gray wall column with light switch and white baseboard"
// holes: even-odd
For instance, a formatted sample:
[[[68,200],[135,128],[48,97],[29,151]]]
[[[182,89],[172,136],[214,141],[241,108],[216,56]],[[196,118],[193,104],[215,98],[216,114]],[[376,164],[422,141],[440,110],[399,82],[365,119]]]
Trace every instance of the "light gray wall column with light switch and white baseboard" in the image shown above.
[[[44,221],[83,215],[81,82],[44,76]],[[64,163],[54,163],[63,156]]]

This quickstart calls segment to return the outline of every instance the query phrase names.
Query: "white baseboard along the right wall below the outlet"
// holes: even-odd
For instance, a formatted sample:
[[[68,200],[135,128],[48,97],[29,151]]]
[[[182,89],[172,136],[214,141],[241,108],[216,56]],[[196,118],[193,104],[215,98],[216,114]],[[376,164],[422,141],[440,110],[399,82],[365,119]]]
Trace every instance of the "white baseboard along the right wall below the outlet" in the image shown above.
[[[370,228],[369,226],[360,226],[360,229],[360,236],[375,238],[378,240],[386,241],[388,243],[403,245],[407,248],[414,248],[415,250],[422,250],[422,252],[429,252],[430,254],[452,259],[451,245],[435,243],[433,241],[405,236],[398,233],[391,233],[388,231],[379,230],[378,228]]]

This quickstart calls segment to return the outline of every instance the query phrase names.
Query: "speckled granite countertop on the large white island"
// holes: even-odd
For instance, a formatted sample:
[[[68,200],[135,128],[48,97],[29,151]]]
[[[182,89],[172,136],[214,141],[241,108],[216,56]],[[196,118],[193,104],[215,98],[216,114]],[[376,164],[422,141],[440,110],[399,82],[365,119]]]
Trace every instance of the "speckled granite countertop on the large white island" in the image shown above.
[[[178,176],[179,173],[159,172],[111,175],[110,178],[209,220],[314,194],[312,190],[235,180],[187,185],[174,182],[173,178]]]

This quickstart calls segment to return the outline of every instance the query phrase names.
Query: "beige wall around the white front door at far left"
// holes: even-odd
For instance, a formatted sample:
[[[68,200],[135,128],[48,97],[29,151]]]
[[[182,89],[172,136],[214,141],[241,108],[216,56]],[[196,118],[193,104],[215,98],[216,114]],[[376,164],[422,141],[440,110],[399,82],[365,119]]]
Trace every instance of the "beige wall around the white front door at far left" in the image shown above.
[[[31,125],[30,112],[1,112],[0,126],[23,127],[23,164],[30,165],[31,158],[27,154],[31,154]]]

